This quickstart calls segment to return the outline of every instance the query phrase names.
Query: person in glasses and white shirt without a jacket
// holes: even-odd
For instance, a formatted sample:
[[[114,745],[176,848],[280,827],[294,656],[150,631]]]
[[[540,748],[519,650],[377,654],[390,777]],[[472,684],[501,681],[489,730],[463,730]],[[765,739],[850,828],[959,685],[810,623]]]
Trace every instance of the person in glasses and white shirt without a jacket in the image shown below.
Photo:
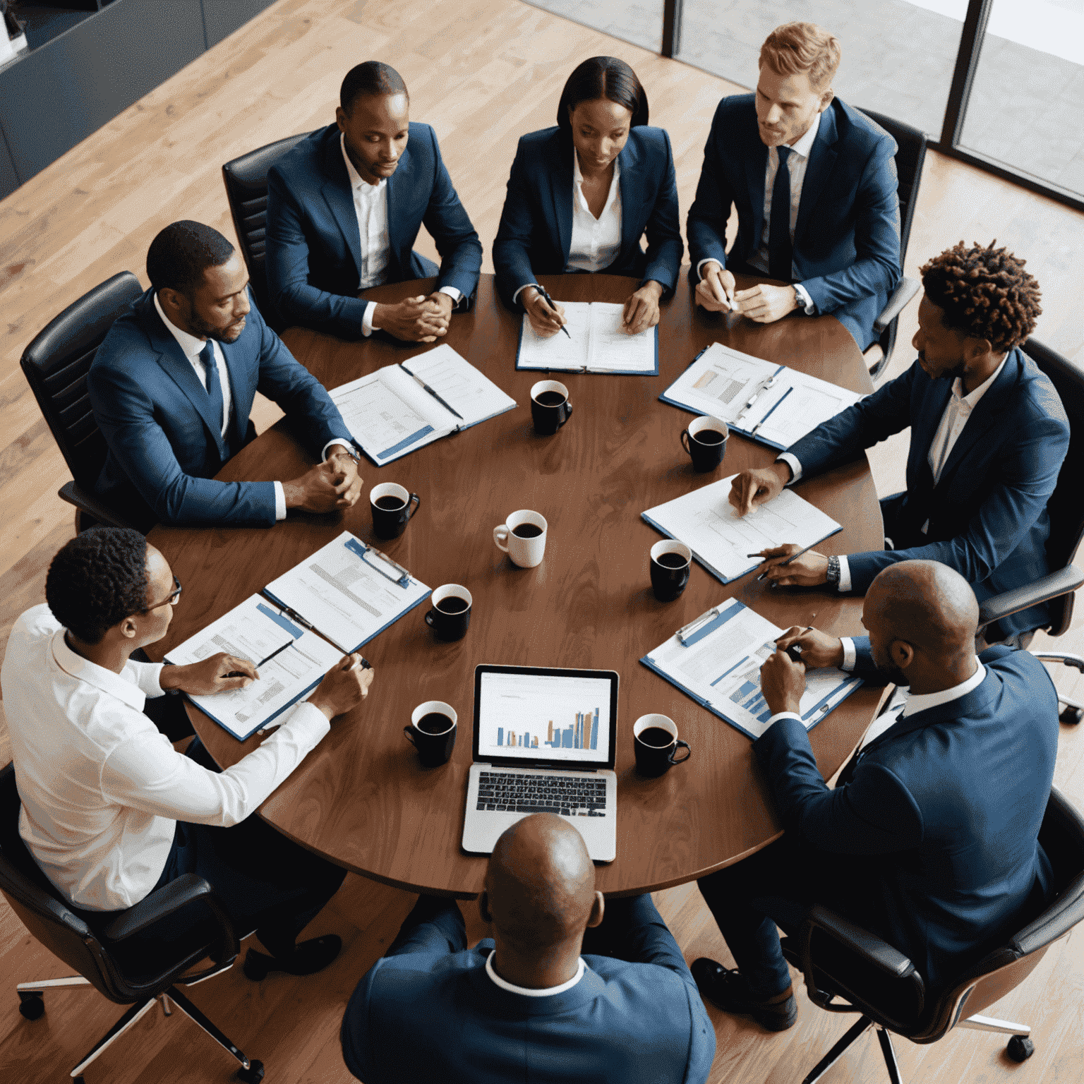
[[[249,950],[246,972],[319,971],[338,954],[339,938],[295,939],[344,870],[253,814],[331,720],[361,702],[373,671],[360,669],[360,656],[344,659],[258,749],[218,772],[198,738],[188,756],[175,751],[143,705],[167,689],[209,695],[250,685],[259,681],[253,663],[224,653],[184,667],[130,658],[166,635],[180,594],[166,558],[127,528],[83,531],[53,558],[47,602],[15,622],[0,671],[20,835],[92,929],[197,874],[237,935],[256,929],[271,954]],[[137,937],[147,945],[183,938],[205,917],[194,904]]]

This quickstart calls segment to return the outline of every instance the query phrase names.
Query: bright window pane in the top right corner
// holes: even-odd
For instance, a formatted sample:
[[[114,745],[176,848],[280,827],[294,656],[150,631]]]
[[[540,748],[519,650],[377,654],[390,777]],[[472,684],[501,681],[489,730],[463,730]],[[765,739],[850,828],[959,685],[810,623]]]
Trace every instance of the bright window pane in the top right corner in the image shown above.
[[[1084,0],[994,0],[958,146],[1084,196]]]

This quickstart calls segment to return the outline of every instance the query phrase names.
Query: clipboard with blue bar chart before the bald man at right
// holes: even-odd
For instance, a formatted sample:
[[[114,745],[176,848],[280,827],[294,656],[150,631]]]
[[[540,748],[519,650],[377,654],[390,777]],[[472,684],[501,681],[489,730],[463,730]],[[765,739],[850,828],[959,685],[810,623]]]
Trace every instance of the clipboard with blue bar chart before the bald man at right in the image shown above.
[[[785,630],[737,599],[720,604],[695,624],[695,633],[675,632],[640,661],[743,734],[759,738],[772,718],[760,691],[760,668]],[[805,730],[861,684],[861,678],[835,668],[806,671],[798,705]]]

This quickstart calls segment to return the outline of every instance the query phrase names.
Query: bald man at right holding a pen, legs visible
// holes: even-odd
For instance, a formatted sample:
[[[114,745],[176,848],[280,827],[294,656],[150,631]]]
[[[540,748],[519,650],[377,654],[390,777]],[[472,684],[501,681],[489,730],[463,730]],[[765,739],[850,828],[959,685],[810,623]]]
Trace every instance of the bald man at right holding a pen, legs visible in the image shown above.
[[[1046,904],[1038,828],[1054,778],[1057,694],[1027,651],[998,645],[977,657],[978,618],[958,572],[906,560],[870,584],[868,637],[848,645],[795,628],[777,641],[761,669],[773,715],[753,750],[786,831],[699,882],[738,965],[693,964],[707,999],[770,1030],[789,1028],[797,1009],[776,924],[796,932],[813,903],[906,954],[934,994]],[[847,662],[900,688],[829,790],[798,699],[805,669]]]

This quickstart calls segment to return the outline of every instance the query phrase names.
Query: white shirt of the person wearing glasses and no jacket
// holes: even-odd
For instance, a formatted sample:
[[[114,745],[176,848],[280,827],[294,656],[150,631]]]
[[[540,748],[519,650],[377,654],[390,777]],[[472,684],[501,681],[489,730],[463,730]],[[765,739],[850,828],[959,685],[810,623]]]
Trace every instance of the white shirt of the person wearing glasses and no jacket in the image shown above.
[[[53,885],[87,911],[118,911],[154,888],[177,821],[234,825],[330,730],[298,704],[283,725],[221,774],[175,751],[143,714],[162,696],[160,663],[118,674],[68,647],[48,605],[15,622],[0,670],[22,798],[18,830]]]

